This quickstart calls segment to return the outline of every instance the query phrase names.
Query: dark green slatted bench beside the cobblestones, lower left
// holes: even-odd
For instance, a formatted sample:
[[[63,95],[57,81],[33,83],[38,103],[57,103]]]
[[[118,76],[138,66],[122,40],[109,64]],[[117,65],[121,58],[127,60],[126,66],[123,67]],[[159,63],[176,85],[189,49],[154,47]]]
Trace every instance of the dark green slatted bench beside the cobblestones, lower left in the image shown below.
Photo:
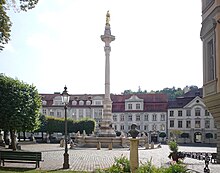
[[[39,168],[40,161],[42,161],[41,158],[41,152],[0,151],[0,166],[1,163],[5,166],[5,162],[30,163],[36,164],[36,168]]]

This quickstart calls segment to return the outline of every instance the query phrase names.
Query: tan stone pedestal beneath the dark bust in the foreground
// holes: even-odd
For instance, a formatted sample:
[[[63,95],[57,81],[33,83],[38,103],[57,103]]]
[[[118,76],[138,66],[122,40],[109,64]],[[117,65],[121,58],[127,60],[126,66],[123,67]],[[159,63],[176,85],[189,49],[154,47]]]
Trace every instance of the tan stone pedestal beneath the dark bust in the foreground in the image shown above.
[[[134,138],[130,139],[130,166],[132,173],[135,173],[139,165],[138,145],[139,145],[138,139],[134,139]]]

